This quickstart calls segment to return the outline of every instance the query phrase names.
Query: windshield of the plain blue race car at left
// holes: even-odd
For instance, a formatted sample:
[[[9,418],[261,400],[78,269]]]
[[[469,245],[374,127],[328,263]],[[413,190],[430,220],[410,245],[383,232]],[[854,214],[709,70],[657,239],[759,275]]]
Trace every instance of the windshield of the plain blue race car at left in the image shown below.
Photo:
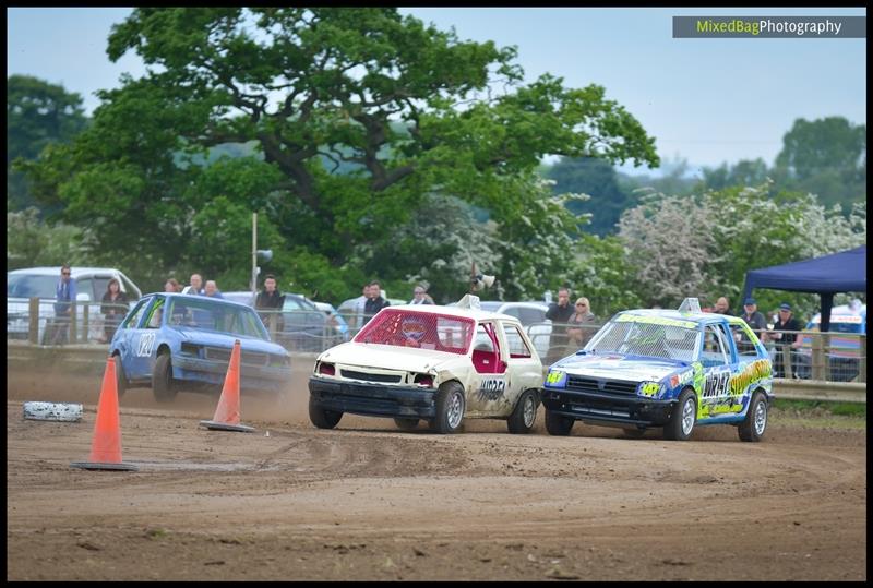
[[[204,297],[186,296],[170,298],[169,309],[167,320],[169,326],[270,340],[258,313],[247,307],[223,304]]]

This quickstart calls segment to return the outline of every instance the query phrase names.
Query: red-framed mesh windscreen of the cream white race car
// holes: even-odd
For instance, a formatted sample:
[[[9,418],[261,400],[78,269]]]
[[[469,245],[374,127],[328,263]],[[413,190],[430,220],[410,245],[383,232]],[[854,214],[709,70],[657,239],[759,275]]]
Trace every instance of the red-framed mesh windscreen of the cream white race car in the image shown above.
[[[367,323],[355,343],[465,355],[475,329],[473,319],[387,308]]]

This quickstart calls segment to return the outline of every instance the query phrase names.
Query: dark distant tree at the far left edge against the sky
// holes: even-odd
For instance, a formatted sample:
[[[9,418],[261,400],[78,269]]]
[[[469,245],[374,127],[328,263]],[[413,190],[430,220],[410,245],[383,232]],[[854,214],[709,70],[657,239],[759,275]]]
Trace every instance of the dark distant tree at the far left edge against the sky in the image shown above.
[[[70,141],[86,124],[79,94],[31,75],[7,77],[7,211],[34,204],[24,177],[12,170],[12,161],[36,159],[47,145]]]

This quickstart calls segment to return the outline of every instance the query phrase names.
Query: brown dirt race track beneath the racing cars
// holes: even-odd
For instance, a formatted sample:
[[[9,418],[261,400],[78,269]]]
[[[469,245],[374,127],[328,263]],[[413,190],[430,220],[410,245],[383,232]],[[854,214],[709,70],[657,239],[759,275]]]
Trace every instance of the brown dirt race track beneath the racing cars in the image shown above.
[[[121,400],[124,461],[86,460],[100,375],[8,372],[8,579],[866,579],[866,431],[778,415],[691,442],[400,433],[387,419],[308,420],[243,398],[253,434],[205,431],[216,398]],[[79,423],[25,400],[81,401]],[[266,435],[268,431],[268,436]]]

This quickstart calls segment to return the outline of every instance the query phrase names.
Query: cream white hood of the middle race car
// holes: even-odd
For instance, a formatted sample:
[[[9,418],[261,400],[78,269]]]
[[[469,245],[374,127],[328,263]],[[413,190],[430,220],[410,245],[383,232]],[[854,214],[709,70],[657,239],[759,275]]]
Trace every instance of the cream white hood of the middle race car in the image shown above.
[[[361,368],[427,372],[429,370],[440,369],[441,364],[463,357],[464,356],[457,353],[446,353],[445,351],[434,351],[432,349],[344,343],[327,349],[319,356],[319,361],[330,361]]]

